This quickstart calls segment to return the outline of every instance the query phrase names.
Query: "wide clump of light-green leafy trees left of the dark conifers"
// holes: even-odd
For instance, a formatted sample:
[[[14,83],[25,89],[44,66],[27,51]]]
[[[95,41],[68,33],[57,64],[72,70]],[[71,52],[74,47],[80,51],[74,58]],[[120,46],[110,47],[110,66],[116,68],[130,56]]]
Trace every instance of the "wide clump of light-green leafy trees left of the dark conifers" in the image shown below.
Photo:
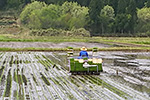
[[[34,7],[34,8],[33,8]],[[30,28],[61,28],[66,30],[83,28],[88,23],[88,8],[75,2],[65,2],[62,6],[33,2],[21,13],[21,21]]]

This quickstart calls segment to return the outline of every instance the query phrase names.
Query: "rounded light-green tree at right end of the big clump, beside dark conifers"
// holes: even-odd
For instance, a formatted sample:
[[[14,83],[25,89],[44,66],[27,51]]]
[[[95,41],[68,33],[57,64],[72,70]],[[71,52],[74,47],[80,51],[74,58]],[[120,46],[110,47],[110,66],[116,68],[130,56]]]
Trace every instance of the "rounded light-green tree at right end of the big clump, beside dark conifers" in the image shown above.
[[[81,7],[76,2],[65,2],[61,6],[61,21],[68,29],[84,27],[88,22],[88,8]]]

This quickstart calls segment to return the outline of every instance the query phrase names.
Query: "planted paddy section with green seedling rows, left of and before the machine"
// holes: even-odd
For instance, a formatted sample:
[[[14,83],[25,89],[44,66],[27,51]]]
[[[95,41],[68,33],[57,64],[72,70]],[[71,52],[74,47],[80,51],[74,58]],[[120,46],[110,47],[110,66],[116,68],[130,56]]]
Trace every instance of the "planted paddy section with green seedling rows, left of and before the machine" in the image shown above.
[[[0,99],[133,99],[123,86],[94,75],[70,75],[52,52],[0,53]],[[53,59],[53,60],[52,60]],[[64,59],[64,58],[63,58]],[[59,62],[59,63],[56,63]],[[55,65],[55,66],[54,66]],[[139,99],[143,98],[140,93]],[[145,97],[146,98],[146,97]],[[144,98],[144,99],[145,99]]]

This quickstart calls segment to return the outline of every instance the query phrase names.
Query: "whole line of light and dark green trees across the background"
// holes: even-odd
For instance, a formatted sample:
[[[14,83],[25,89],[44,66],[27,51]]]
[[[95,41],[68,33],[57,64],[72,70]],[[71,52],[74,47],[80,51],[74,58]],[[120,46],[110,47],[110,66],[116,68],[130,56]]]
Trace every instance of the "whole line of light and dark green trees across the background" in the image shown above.
[[[9,8],[22,9],[22,23],[31,29],[85,28],[91,35],[150,35],[150,0],[0,1],[1,10]]]

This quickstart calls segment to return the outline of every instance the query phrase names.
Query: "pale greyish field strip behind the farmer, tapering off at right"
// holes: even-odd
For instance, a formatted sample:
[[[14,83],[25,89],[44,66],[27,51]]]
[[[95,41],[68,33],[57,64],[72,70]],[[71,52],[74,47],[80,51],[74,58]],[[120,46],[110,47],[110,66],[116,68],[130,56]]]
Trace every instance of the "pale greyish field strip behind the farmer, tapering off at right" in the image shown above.
[[[86,46],[87,48],[105,48],[110,47],[109,45],[100,44],[100,43],[84,43],[84,42],[63,42],[63,43],[52,43],[52,42],[0,42],[1,48],[66,48],[66,47],[75,47],[81,48]]]

